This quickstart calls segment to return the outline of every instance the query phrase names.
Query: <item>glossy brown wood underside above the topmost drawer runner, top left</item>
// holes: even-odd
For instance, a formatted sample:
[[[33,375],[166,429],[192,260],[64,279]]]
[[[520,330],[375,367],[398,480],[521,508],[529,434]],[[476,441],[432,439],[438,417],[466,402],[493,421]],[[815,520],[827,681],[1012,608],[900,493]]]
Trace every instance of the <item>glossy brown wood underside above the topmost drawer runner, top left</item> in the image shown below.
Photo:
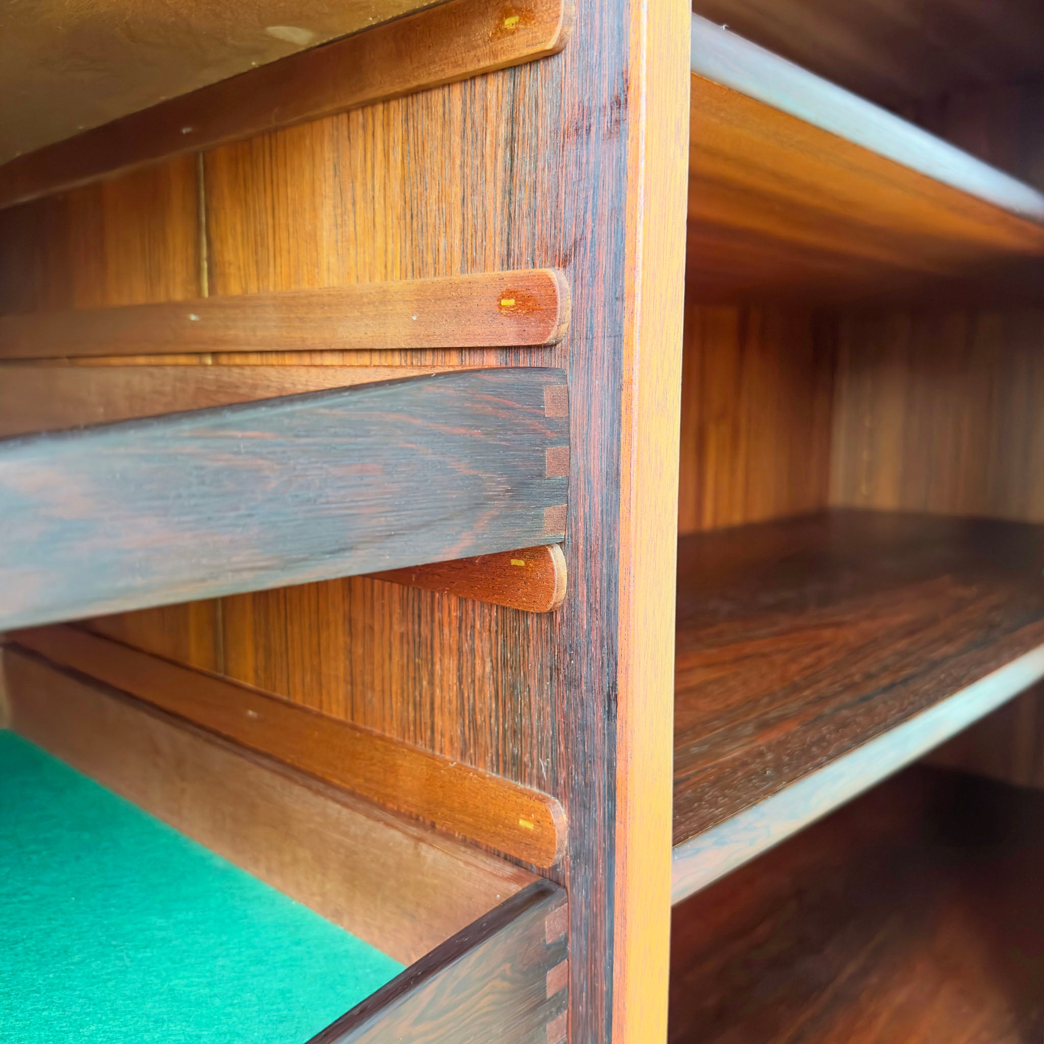
[[[0,163],[432,2],[9,4],[0,13]]]

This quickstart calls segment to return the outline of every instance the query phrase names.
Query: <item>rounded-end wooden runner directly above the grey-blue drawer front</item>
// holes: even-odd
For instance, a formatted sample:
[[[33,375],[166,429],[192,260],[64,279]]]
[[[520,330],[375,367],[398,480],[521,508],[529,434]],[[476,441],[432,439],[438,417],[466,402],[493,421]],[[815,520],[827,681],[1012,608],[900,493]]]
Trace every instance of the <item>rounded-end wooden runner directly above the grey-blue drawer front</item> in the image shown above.
[[[569,326],[550,269],[0,316],[0,357],[546,347]]]

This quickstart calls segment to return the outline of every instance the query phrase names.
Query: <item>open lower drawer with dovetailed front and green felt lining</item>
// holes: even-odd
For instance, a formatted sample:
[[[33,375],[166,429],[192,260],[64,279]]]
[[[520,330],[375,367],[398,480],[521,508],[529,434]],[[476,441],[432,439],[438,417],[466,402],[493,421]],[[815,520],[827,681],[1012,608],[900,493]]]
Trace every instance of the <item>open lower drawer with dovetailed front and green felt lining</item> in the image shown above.
[[[146,1021],[164,1020],[170,1039],[191,1039],[218,992],[235,1039],[304,1042],[315,1034],[322,1041],[546,1044],[565,1037],[567,917],[560,887],[37,654],[8,645],[3,660],[7,725],[21,737],[0,734],[0,785],[14,789],[5,818],[16,844],[8,852],[21,845],[43,859],[57,894],[41,894],[32,867],[42,864],[23,861],[9,880],[22,881],[41,910],[75,911],[51,943],[35,934],[34,921],[16,940],[21,945],[15,951],[27,959],[68,954],[70,936],[76,940],[71,963],[50,963],[46,989],[22,996],[23,1022],[40,1003],[41,1016],[46,1011],[51,1021],[58,1018],[77,1039],[110,1040],[105,1013],[125,1015],[129,1005]],[[113,793],[54,764],[40,749]],[[46,792],[30,792],[38,779],[50,781]],[[90,791],[86,806],[76,799],[82,788]],[[41,811],[26,815],[30,808]],[[128,831],[141,838],[158,832],[160,840],[128,844]],[[60,865],[55,873],[56,858],[69,860],[75,873]],[[135,858],[142,863],[136,867]],[[124,860],[116,871],[114,859]],[[108,868],[98,870],[105,860]],[[89,882],[100,877],[112,887],[114,873],[124,874],[125,882],[117,881],[114,901],[105,902],[104,888]],[[79,891],[85,886],[87,894]],[[187,909],[193,902],[203,909]],[[119,923],[128,918],[129,926]],[[176,918],[188,927],[171,935]],[[226,933],[222,918],[231,926]],[[201,926],[199,939],[188,938],[193,924]],[[136,939],[132,952],[140,964],[121,969],[124,951],[106,945],[100,959],[88,957],[85,965],[82,947],[106,941],[114,925],[119,938]],[[177,945],[165,946],[165,933]],[[271,954],[263,973],[248,959],[243,964],[237,940],[244,938],[248,953]],[[324,947],[330,952],[318,952]],[[186,955],[190,966],[196,962],[191,974],[177,963]],[[352,996],[347,1012],[337,1010],[328,983],[315,977],[340,974],[345,962],[356,958],[364,966],[356,986],[379,988],[354,1006],[358,998]],[[200,975],[204,962],[209,970]],[[77,992],[77,969],[100,974],[106,963],[116,971],[104,979],[105,990]],[[150,965],[158,973],[143,974]],[[32,974],[28,965],[23,972]],[[129,995],[112,996],[120,990]],[[84,1006],[86,996],[93,1003]],[[283,1025],[291,1027],[285,1036]],[[224,1029],[219,1021],[209,1031]]]

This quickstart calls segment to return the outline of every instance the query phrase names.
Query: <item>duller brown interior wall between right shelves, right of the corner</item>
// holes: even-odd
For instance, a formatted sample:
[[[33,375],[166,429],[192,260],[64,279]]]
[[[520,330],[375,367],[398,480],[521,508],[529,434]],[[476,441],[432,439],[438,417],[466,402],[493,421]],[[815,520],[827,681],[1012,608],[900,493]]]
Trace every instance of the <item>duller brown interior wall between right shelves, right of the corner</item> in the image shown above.
[[[1044,313],[847,315],[838,331],[833,503],[1044,520]]]

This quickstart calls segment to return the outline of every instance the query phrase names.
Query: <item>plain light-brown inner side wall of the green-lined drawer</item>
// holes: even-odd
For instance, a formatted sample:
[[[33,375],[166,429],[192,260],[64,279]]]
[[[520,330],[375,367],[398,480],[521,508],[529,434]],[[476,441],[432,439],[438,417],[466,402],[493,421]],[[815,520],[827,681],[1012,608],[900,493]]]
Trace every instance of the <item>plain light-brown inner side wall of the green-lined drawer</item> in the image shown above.
[[[8,645],[16,732],[398,960],[532,881]]]

